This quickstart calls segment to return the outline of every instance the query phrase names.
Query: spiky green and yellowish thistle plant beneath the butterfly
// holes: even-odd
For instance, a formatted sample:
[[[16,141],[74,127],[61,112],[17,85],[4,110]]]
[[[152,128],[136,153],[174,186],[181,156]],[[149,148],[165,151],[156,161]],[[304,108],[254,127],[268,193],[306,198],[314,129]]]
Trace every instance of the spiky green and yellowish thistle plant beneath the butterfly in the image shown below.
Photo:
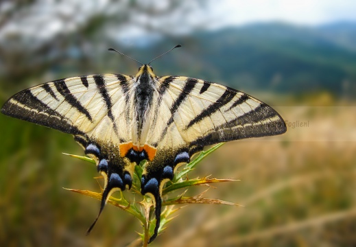
[[[235,204],[233,202],[226,202],[219,199],[209,199],[204,198],[204,192],[200,193],[196,196],[185,196],[185,193],[190,187],[196,185],[209,185],[211,183],[222,183],[222,182],[230,182],[236,181],[235,179],[217,179],[217,178],[194,178],[189,179],[188,174],[191,172],[206,156],[211,154],[211,152],[217,150],[223,143],[219,143],[209,150],[200,152],[200,154],[193,160],[191,163],[188,163],[182,169],[178,170],[173,178],[173,180],[169,181],[163,187],[163,202],[162,202],[162,213],[161,213],[161,226],[158,229],[158,235],[163,233],[165,228],[167,228],[168,222],[174,219],[174,213],[180,209],[180,204],[228,204],[233,206],[239,206],[239,204]],[[92,158],[87,156],[78,156],[74,154],[66,154],[72,156],[74,158],[80,158],[83,161],[87,161],[95,164],[95,161]],[[145,161],[141,162],[140,165],[136,165],[134,169],[134,179],[132,183],[132,188],[130,191],[126,191],[125,193],[133,193],[134,200],[128,200],[125,197],[125,193],[122,191],[115,193],[114,196],[110,196],[108,199],[109,204],[112,204],[127,213],[130,213],[134,217],[136,217],[142,224],[143,232],[138,233],[139,239],[141,239],[142,246],[148,246],[148,240],[150,236],[154,233],[154,226],[156,224],[156,220],[154,216],[152,216],[154,211],[154,204],[149,196],[142,196],[140,192],[141,188],[141,176],[143,172],[143,167],[145,165]],[[101,177],[99,177],[101,178]],[[102,189],[102,188],[101,188]],[[80,189],[68,189],[69,191],[73,191],[76,193],[81,193],[86,196],[90,196],[91,198],[95,198],[97,200],[102,200],[102,191],[101,192],[93,192],[87,190]],[[172,196],[172,192],[181,190],[178,196]],[[119,194],[119,197],[117,196]],[[132,198],[132,197],[130,197]]]

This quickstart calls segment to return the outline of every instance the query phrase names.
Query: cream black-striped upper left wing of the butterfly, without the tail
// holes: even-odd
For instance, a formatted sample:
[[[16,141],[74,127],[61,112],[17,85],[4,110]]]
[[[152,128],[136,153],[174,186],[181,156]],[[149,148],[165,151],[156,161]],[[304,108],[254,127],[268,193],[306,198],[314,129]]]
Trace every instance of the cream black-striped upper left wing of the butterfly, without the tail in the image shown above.
[[[47,82],[16,93],[1,112],[74,135],[126,141],[130,139],[126,105],[131,79],[104,74]]]

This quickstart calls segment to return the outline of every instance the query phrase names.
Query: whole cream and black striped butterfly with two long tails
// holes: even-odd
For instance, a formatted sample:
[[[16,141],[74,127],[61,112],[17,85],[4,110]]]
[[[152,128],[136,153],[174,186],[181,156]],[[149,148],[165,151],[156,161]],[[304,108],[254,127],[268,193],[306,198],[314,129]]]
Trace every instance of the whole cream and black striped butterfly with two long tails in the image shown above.
[[[73,134],[104,177],[99,215],[111,193],[130,189],[134,166],[145,160],[141,193],[152,197],[156,217],[150,242],[160,226],[163,185],[178,166],[206,145],[287,130],[274,109],[246,93],[185,76],[156,76],[150,63],[133,76],[84,75],[25,89],[1,113]]]

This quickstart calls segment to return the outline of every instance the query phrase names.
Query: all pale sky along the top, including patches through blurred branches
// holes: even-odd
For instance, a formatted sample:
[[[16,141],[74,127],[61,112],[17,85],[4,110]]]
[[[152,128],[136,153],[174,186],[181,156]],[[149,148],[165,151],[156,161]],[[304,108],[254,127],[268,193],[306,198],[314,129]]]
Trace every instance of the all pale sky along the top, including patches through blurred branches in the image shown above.
[[[141,5],[154,6],[156,9],[165,9],[170,0],[145,0]],[[126,3],[127,1],[122,1]],[[145,14],[132,14],[132,23],[151,23],[153,26],[166,27],[167,32],[190,32],[193,26],[207,29],[217,29],[232,25],[246,25],[280,21],[294,25],[322,25],[337,21],[354,21],[356,23],[356,0],[203,0],[205,8],[200,8],[198,1],[187,1],[189,14],[167,14],[162,19],[155,19]],[[69,4],[70,3],[70,4]],[[88,4],[91,3],[91,4]],[[6,34],[22,33],[32,38],[47,39],[54,34],[75,30],[86,21],[89,15],[96,12],[118,12],[120,9],[112,8],[109,0],[88,1],[83,4],[80,0],[41,0],[29,8],[31,18],[21,20],[21,12],[15,15],[14,20],[0,28],[1,37]],[[121,3],[121,2],[120,2]],[[0,5],[1,13],[14,8],[11,1]],[[119,7],[120,8],[120,7]],[[62,16],[71,16],[70,21],[63,21]],[[75,18],[73,18],[75,17]],[[77,18],[78,17],[78,18]],[[0,18],[1,22],[1,18]],[[148,36],[141,27],[125,25],[123,30],[126,37]],[[122,30],[121,30],[122,31]],[[117,34],[117,32],[111,32]]]

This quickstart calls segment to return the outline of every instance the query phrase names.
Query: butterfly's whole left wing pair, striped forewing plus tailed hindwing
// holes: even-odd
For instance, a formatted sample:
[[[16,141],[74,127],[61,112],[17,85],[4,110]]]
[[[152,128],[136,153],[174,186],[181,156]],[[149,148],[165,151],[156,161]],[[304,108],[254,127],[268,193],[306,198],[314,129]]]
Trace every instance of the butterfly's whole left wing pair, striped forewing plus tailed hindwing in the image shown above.
[[[115,74],[56,80],[16,93],[1,113],[73,134],[105,178],[103,208],[132,184],[134,167],[119,155],[119,143],[131,139],[131,85],[132,77]]]

